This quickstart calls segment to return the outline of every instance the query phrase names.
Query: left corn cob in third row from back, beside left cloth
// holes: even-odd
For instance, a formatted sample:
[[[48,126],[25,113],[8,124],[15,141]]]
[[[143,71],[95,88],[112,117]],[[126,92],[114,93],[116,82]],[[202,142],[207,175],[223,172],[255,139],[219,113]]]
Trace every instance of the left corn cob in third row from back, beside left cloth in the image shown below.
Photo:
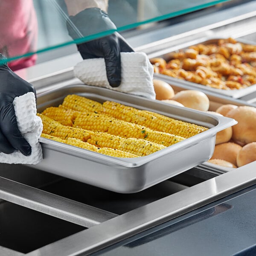
[[[86,131],[81,128],[74,128],[70,126],[61,125],[61,123],[44,116],[43,114],[37,114],[43,121],[43,133],[51,136],[59,137],[61,139],[77,138],[82,141],[87,141],[92,131]]]

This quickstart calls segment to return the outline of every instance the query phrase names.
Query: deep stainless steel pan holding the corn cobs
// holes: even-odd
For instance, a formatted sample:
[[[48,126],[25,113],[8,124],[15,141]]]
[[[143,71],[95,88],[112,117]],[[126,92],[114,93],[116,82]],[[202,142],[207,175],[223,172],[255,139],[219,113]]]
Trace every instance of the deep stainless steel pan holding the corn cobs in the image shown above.
[[[73,93],[98,102],[116,101],[209,128],[175,145],[137,158],[111,157],[40,138],[44,159],[35,165],[36,169],[120,193],[139,192],[207,161],[214,151],[216,133],[236,124],[234,119],[227,117],[87,85],[70,85],[38,94],[38,112],[49,106],[58,106],[65,96]]]

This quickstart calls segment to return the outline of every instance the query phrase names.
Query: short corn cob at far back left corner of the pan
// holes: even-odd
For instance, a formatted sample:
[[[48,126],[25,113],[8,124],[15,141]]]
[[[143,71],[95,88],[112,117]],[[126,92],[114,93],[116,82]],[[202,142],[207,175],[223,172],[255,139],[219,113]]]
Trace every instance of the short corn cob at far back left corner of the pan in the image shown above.
[[[67,95],[62,102],[65,108],[71,108],[81,112],[102,112],[102,104],[76,94]]]

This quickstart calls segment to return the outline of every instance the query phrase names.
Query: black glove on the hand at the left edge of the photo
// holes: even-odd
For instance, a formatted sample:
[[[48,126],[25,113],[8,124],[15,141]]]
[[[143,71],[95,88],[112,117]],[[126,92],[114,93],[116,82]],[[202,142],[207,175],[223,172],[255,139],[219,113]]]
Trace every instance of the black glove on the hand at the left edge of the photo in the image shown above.
[[[3,59],[0,54],[0,60]],[[31,146],[22,137],[17,125],[13,100],[17,96],[33,92],[32,84],[21,79],[7,64],[0,65],[0,152],[11,154],[17,149],[25,156],[31,154]],[[35,94],[36,95],[36,94]]]

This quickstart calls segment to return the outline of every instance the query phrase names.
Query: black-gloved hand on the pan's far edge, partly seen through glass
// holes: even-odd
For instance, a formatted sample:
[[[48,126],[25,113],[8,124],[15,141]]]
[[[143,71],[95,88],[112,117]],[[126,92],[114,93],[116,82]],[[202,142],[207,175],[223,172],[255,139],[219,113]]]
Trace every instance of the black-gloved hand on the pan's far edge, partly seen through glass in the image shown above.
[[[134,50],[119,33],[114,32],[116,26],[99,8],[85,9],[75,16],[70,16],[70,20],[72,23],[67,23],[67,28],[73,39],[113,31],[111,35],[79,44],[77,47],[83,59],[105,58],[108,82],[112,87],[118,87],[121,83],[120,52]],[[72,25],[75,25],[75,28]]]

